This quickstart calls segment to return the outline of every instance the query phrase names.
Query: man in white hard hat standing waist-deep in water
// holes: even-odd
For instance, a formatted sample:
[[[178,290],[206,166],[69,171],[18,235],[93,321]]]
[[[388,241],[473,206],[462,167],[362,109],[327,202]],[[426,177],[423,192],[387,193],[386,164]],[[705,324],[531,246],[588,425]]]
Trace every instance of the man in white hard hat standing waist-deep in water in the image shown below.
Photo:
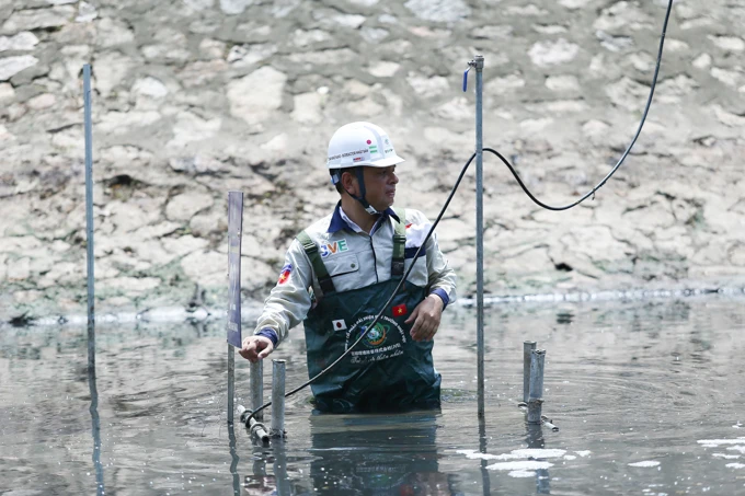
[[[366,331],[414,264],[362,343],[311,384],[320,411],[439,407],[433,337],[456,298],[456,276],[434,234],[422,246],[432,227],[426,217],[391,208],[401,162],[374,124],[352,123],[334,132],[326,166],[341,200],[293,241],[254,335],[239,351],[251,361],[266,358],[305,319],[308,372],[316,377]]]

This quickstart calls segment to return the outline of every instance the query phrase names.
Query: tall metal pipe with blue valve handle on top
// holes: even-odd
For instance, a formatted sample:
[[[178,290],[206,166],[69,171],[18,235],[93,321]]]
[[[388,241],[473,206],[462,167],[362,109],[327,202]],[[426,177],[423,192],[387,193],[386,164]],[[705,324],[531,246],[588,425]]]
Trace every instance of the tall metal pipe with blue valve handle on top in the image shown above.
[[[475,293],[479,417],[484,416],[484,204],[483,204],[483,68],[484,58],[474,57],[475,67]]]

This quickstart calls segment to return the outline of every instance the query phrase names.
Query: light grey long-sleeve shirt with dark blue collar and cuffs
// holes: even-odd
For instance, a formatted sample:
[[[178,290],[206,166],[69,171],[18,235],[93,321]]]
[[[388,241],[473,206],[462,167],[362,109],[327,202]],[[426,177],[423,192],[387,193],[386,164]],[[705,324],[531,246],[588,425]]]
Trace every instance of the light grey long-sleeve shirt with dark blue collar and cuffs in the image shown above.
[[[404,273],[414,263],[413,256],[432,227],[421,211],[406,209],[405,212]],[[349,291],[390,279],[394,216],[392,209],[386,210],[368,234],[344,215],[341,206],[336,206],[333,214],[306,229],[319,246],[336,291]],[[409,281],[438,295],[446,305],[455,301],[456,274],[448,266],[434,233],[416,258]],[[288,331],[308,314],[312,304],[310,288],[317,299],[323,298],[308,255],[300,242],[293,240],[279,280],[264,302],[254,334],[275,334],[277,344],[282,342]]]

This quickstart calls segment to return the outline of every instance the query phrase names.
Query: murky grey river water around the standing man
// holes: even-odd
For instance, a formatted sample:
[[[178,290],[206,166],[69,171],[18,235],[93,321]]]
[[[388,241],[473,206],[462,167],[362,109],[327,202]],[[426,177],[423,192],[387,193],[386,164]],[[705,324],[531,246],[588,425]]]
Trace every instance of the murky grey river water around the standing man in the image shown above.
[[[442,412],[312,415],[303,391],[288,399],[287,441],[270,448],[240,424],[231,443],[219,323],[100,326],[94,389],[84,328],[5,327],[0,494],[745,494],[743,303],[488,309],[481,425],[474,313],[448,309]],[[529,431],[516,406],[525,339],[547,349],[543,413],[558,432]],[[288,388],[306,380],[301,332],[273,357]]]

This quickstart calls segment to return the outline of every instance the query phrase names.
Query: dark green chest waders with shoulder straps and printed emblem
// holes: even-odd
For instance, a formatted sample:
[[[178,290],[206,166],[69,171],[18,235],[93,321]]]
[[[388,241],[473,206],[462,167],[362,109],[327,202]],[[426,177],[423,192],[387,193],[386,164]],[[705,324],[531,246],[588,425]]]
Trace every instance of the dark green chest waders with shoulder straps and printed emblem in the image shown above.
[[[337,292],[318,246],[302,231],[302,244],[323,291],[303,324],[308,373],[314,377],[339,358],[365,332],[403,276],[405,218],[396,223],[391,278]],[[415,261],[412,261],[414,263]],[[404,282],[365,339],[310,388],[322,412],[351,413],[439,407],[440,376],[432,361],[433,342],[415,342],[404,321],[424,299],[426,288]]]

